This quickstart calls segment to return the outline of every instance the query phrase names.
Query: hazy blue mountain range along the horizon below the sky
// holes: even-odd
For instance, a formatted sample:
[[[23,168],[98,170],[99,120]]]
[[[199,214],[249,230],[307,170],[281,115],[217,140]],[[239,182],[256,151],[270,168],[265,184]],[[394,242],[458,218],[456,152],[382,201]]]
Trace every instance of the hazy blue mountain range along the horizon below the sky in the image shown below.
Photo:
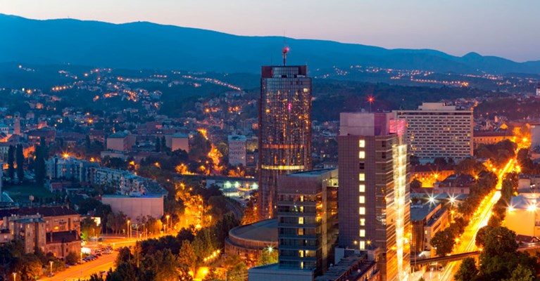
[[[463,57],[429,49],[387,49],[336,41],[246,37],[151,22],[112,24],[32,20],[0,14],[0,63],[76,64],[126,69],[260,72],[261,65],[308,64],[313,69],[363,65],[403,70],[539,74],[540,61]]]

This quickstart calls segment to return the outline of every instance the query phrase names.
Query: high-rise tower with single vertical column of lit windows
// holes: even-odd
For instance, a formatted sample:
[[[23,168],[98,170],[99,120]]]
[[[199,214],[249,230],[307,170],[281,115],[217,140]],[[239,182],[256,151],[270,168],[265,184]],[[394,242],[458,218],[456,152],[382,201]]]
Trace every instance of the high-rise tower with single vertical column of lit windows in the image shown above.
[[[408,280],[410,206],[405,122],[391,113],[341,113],[339,247],[379,248],[382,281]]]

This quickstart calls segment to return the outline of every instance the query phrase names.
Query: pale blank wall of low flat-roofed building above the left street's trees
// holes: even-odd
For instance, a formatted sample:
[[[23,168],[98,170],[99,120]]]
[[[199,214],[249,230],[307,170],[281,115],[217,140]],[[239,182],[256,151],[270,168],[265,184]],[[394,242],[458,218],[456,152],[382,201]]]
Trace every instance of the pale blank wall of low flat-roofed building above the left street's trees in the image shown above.
[[[111,205],[114,212],[122,211],[132,221],[142,216],[161,218],[163,216],[163,197],[129,197],[104,195],[103,204]]]

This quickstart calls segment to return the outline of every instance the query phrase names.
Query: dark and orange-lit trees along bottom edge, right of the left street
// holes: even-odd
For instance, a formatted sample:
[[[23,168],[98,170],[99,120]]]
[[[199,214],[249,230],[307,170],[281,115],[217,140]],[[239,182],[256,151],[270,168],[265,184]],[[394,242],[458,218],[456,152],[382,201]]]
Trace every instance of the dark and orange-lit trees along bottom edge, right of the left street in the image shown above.
[[[115,261],[115,270],[110,270],[106,280],[193,280],[198,268],[210,267],[207,278],[211,280],[245,280],[247,266],[239,256],[227,256],[218,270],[205,259],[217,249],[222,249],[225,237],[220,233],[228,233],[230,228],[238,225],[233,216],[227,215],[215,226],[195,229],[183,229],[177,236],[165,236],[137,242],[133,251],[120,249]],[[265,260],[268,260],[265,259]],[[93,276],[91,280],[103,280]]]

